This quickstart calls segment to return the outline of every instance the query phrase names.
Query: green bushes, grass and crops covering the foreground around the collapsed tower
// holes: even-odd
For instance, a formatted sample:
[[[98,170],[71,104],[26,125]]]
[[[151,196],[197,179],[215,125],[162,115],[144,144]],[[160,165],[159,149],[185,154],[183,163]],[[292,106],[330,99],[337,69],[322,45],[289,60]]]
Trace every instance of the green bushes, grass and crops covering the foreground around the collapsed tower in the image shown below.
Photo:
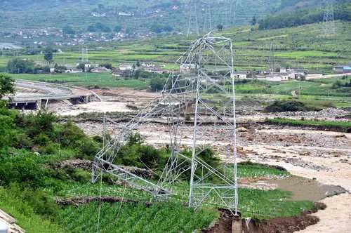
[[[184,174],[184,181],[176,184],[174,195],[167,202],[147,207],[143,203],[152,200],[150,194],[113,184],[108,175],[102,179],[101,186],[90,184],[90,171],[58,166],[67,159],[92,160],[101,147],[100,137],[88,137],[71,121],[59,123],[57,116],[46,112],[22,114],[7,109],[3,103],[0,107],[0,130],[0,208],[17,218],[20,226],[29,233],[95,231],[100,208],[97,203],[63,207],[58,206],[54,199],[96,197],[100,194],[140,201],[140,204],[102,203],[101,232],[125,229],[138,232],[140,227],[146,232],[164,232],[166,229],[193,232],[208,227],[218,218],[213,204],[208,203],[208,206],[196,211],[186,207],[188,173]],[[115,162],[150,167],[159,173],[169,153],[167,147],[155,149],[145,145],[139,135],[132,134]],[[182,153],[186,156],[192,154],[187,149]],[[214,168],[220,166],[220,160],[209,148],[199,157]],[[241,164],[239,175],[274,177],[289,173],[258,164]],[[157,174],[155,176],[157,178]],[[243,216],[258,219],[299,215],[304,209],[312,208],[312,202],[291,201],[291,193],[280,190],[239,189],[239,198],[242,200],[239,208]]]

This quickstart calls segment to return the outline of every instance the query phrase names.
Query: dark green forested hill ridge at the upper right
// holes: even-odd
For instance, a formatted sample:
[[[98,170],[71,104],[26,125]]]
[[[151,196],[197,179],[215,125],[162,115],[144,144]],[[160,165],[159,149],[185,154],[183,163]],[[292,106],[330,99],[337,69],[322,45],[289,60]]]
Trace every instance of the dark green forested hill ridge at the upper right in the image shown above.
[[[306,8],[305,10],[293,11],[291,13],[267,16],[263,20],[260,20],[258,29],[277,29],[307,25],[322,22],[323,17],[324,8]],[[351,3],[334,6],[334,19],[351,21]]]

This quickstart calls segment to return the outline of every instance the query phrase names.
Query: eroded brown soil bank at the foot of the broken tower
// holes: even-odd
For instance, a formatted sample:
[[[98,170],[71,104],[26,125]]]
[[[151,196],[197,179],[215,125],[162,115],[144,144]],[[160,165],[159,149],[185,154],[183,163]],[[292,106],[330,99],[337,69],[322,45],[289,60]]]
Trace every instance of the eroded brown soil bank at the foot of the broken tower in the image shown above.
[[[271,220],[241,219],[233,216],[230,211],[220,209],[220,219],[209,229],[203,229],[204,233],[292,233],[316,224],[319,219],[312,216],[318,210],[325,209],[324,204],[315,203],[312,211],[305,211],[296,217],[281,217]]]

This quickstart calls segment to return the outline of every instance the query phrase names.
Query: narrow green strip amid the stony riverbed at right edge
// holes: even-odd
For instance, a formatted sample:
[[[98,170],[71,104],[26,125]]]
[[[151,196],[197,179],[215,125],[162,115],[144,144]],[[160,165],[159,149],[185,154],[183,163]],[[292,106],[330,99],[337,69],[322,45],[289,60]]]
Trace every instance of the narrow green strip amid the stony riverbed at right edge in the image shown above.
[[[330,129],[336,131],[351,132],[350,121],[319,121],[319,120],[293,120],[293,119],[268,119],[269,124],[281,124],[288,126],[310,126],[315,128]]]

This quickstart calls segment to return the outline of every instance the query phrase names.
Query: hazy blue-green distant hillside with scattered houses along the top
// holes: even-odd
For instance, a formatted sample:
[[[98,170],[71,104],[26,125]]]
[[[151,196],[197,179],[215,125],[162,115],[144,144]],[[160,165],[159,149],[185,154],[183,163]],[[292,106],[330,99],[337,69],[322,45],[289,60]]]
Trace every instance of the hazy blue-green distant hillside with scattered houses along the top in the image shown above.
[[[124,30],[143,31],[150,30],[152,25],[161,24],[186,32],[192,14],[190,27],[197,25],[200,31],[205,31],[210,24],[212,28],[220,24],[225,27],[245,25],[253,16],[261,19],[291,4],[296,4],[296,1],[15,0],[1,4],[0,28],[12,31],[72,26],[78,31],[85,31],[89,25],[100,22],[111,29],[119,25]],[[195,17],[198,23],[194,21]]]

